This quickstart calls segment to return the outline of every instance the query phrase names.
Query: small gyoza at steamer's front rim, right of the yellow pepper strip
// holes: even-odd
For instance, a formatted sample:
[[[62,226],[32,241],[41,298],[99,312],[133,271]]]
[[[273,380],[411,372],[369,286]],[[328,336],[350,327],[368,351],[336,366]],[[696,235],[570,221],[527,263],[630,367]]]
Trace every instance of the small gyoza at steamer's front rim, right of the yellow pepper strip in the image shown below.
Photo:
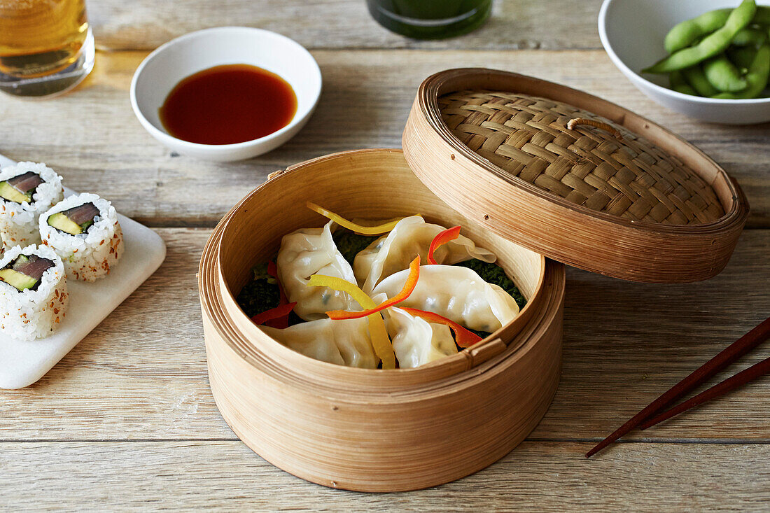
[[[429,323],[397,307],[386,308],[383,314],[400,368],[420,367],[457,354],[452,331],[447,325]]]

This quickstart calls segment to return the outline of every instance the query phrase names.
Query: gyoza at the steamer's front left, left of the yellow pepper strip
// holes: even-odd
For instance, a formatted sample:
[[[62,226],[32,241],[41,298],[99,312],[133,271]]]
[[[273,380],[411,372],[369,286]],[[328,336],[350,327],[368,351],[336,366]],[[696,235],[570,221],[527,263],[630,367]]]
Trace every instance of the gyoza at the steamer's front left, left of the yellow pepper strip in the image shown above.
[[[374,354],[366,317],[311,320],[283,330],[269,326],[259,329],[284,346],[316,360],[366,369],[376,369],[380,364],[380,358]]]

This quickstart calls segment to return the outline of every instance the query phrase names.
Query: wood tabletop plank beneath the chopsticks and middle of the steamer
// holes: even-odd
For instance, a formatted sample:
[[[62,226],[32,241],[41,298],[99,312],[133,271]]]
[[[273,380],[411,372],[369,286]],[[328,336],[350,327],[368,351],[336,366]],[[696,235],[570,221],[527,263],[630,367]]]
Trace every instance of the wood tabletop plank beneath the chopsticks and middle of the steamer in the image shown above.
[[[158,231],[168,244],[160,270],[41,381],[0,391],[0,411],[12,412],[0,441],[235,438],[206,374],[196,271],[209,230]],[[531,439],[598,441],[767,317],[768,254],[770,230],[749,230],[728,268],[702,283],[642,285],[569,270],[561,384]],[[630,438],[770,441],[768,407],[765,377]]]

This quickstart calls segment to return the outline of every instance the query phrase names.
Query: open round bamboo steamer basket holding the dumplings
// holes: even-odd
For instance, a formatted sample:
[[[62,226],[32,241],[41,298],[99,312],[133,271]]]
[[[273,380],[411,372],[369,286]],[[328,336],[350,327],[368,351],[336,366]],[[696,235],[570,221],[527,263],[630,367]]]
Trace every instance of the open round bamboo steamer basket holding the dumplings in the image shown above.
[[[420,213],[459,224],[497,254],[527,305],[475,347],[416,369],[343,367],[283,347],[253,325],[234,295],[283,235],[323,224],[306,201],[349,218]],[[216,226],[199,288],[219,411],[267,461],[320,485],[402,491],[472,474],[534,429],[559,381],[564,266],[452,210],[397,149],[324,156],[273,176]]]

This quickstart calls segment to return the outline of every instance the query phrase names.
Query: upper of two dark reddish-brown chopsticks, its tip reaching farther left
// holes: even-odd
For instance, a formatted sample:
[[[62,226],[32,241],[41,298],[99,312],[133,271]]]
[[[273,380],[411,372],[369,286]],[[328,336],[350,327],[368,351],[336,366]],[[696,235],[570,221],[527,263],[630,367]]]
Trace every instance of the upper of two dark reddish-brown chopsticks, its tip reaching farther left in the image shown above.
[[[621,438],[624,434],[627,434],[628,431],[638,427],[639,424],[643,423],[653,415],[658,414],[679,397],[687,394],[693,388],[708,380],[709,377],[722,371],[729,364],[747,354],[748,351],[754,349],[759,344],[762,344],[768,336],[770,336],[770,317],[762,321],[761,324],[749,331],[743,337],[735,340],[735,342],[728,347],[725,347],[721,353],[711,358],[711,360],[708,360],[708,362],[698,368],[697,371],[693,372],[688,377],[685,377],[685,379],[680,381],[674,387],[671,387],[670,390],[648,404],[642,411],[635,414],[634,417],[631,417],[631,419],[626,421],[620,428],[616,429],[607,438],[604,438],[604,440],[599,442],[596,447],[591,449],[591,451],[588,451],[585,454],[585,457],[591,458],[591,456],[598,453],[598,451],[601,451],[612,442],[618,440],[618,438]]]

